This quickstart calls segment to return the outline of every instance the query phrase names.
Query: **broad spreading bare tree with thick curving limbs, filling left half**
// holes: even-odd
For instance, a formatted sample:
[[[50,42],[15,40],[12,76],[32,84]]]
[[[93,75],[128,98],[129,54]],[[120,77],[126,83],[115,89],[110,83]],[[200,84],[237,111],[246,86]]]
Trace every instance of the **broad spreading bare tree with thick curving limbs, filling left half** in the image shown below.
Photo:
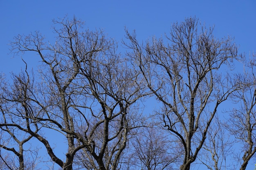
[[[74,160],[79,152],[92,159],[94,169],[115,170],[129,130],[138,125],[131,109],[146,95],[144,85],[103,31],[81,31],[83,22],[76,18],[54,24],[54,44],[46,43],[38,32],[18,35],[12,42],[14,53],[34,52],[42,65],[32,77],[26,71],[14,77],[16,84],[3,88],[8,113],[22,124],[9,118],[0,126],[38,139],[63,170],[78,167]],[[65,161],[55,155],[43,135],[45,128],[65,136]]]

